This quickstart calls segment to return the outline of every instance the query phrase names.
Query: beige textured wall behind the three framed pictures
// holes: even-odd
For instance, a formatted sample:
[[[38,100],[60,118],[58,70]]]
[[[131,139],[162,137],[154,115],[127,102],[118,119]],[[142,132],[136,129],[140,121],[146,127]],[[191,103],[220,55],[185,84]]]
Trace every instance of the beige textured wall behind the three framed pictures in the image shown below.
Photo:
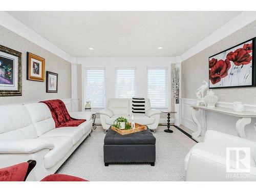
[[[22,52],[22,96],[0,97],[0,104],[71,98],[71,63],[0,26],[0,45]],[[27,80],[27,52],[46,59],[45,71],[58,73],[58,93],[46,93],[45,82]],[[45,74],[46,77],[46,74]]]

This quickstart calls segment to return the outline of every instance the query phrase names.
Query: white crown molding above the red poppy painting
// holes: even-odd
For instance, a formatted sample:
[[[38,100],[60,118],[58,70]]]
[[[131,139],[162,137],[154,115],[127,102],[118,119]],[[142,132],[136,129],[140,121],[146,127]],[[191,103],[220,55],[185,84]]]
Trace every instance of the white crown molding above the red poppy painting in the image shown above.
[[[203,51],[207,47],[215,44],[221,39],[227,37],[228,35],[238,31],[239,29],[245,27],[256,20],[256,11],[243,11],[233,19],[229,20],[225,25],[217,29],[215,32],[211,33],[209,36],[204,38],[194,47],[191,47],[185,53],[181,55],[182,61],[196,55],[200,51]]]

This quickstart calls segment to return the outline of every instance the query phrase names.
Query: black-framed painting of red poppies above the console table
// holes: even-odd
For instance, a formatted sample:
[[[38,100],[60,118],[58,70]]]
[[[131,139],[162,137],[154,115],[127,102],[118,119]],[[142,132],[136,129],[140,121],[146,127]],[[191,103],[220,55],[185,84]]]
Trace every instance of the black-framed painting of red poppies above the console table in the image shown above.
[[[209,88],[255,86],[255,38],[209,57]]]

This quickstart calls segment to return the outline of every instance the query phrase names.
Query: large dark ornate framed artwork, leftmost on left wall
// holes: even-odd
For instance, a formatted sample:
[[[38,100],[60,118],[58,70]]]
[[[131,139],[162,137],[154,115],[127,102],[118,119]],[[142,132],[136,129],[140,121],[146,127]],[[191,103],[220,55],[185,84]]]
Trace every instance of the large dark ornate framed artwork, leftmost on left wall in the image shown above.
[[[22,95],[22,53],[0,45],[0,96]]]

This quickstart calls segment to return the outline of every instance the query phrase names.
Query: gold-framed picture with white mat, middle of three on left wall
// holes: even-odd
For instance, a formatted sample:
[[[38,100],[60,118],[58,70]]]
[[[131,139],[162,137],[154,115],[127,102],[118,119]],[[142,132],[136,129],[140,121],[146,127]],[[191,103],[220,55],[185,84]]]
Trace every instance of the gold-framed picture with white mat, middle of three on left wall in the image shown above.
[[[27,80],[45,81],[45,59],[27,53]]]

